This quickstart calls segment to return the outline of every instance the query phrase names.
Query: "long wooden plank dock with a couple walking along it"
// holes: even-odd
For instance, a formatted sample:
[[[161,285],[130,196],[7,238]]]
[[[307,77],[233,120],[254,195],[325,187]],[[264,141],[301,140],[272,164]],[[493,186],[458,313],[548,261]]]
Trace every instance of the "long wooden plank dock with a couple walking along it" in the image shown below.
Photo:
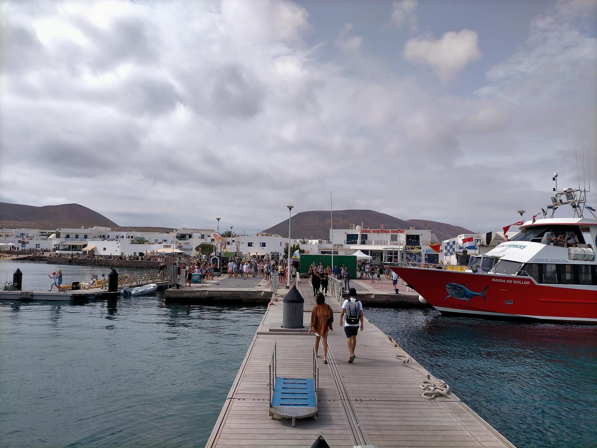
[[[315,297],[306,282],[299,290],[308,326]],[[327,365],[319,348],[318,419],[301,419],[292,427],[290,420],[268,417],[268,366],[274,342],[279,376],[306,378],[313,369],[315,337],[307,335],[307,327],[282,329],[279,301],[268,307],[253,337],[207,448],[310,447],[318,435],[331,447],[513,447],[453,392],[434,400],[422,398],[420,385],[426,375],[403,364],[408,355],[366,319],[357,338],[357,358],[347,363],[340,303],[330,296],[326,301],[334,309],[334,332],[328,336]]]

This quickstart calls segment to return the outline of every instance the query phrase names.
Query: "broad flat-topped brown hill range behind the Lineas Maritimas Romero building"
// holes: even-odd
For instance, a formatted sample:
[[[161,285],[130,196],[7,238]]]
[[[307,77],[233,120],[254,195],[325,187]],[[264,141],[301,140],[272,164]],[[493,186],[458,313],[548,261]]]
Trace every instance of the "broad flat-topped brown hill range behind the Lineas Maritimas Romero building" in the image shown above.
[[[467,229],[451,224],[421,219],[402,220],[386,213],[374,210],[334,210],[334,228],[348,229],[350,224],[378,228],[385,224],[389,229],[408,229],[414,225],[417,229],[431,228],[438,240],[447,240],[456,235],[469,233]],[[426,223],[426,226],[425,224]],[[330,238],[330,211],[313,210],[301,211],[292,218],[291,232],[293,237],[324,239]],[[268,234],[288,237],[288,219],[264,230]]]

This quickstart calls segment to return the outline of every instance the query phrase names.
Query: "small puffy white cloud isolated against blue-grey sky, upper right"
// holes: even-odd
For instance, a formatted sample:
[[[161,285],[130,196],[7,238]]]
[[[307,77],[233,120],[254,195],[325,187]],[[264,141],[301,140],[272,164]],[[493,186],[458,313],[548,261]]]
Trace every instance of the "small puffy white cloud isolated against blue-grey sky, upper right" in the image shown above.
[[[481,59],[475,31],[450,31],[441,39],[413,38],[404,45],[404,59],[429,65],[442,82],[454,78],[467,64]]]

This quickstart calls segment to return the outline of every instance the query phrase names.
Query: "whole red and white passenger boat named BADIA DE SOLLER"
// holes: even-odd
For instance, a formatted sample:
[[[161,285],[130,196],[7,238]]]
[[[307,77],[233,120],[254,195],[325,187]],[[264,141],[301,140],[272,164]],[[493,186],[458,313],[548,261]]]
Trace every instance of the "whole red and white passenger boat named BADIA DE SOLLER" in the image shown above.
[[[553,217],[565,205],[573,207],[573,217]],[[442,314],[597,324],[597,219],[586,206],[586,191],[555,192],[549,212],[551,217],[525,222],[511,240],[473,257],[466,271],[390,268]],[[550,229],[576,235],[576,247],[544,244]],[[473,272],[472,266],[482,269]]]

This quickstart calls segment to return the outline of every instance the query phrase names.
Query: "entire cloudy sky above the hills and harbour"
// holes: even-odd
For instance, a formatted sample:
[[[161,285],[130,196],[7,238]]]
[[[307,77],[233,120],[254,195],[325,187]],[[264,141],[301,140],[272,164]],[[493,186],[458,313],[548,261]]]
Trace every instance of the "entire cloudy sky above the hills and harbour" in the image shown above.
[[[333,191],[485,231],[574,148],[597,171],[594,1],[0,6],[2,201],[251,232]]]

